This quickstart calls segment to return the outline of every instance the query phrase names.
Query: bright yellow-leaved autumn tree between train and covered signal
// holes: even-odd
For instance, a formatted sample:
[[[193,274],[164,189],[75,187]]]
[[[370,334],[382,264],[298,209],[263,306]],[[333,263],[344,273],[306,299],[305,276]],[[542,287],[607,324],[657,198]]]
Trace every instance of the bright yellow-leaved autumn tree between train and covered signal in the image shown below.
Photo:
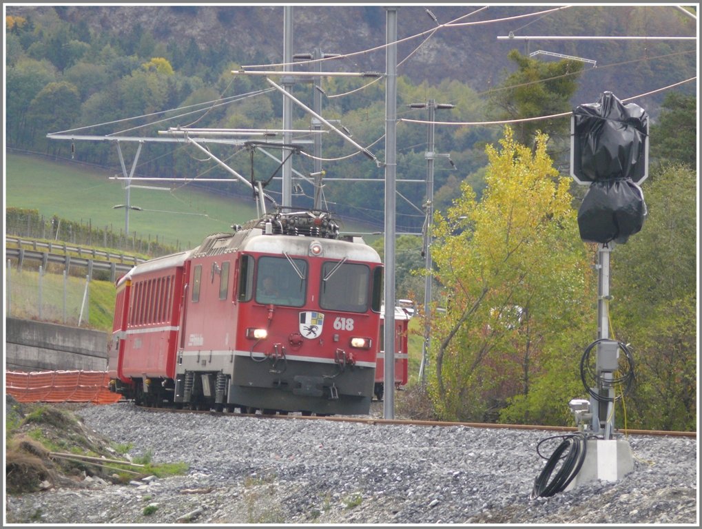
[[[482,200],[464,184],[446,216],[435,216],[432,257],[448,294],[446,312],[432,319],[429,389],[444,420],[488,420],[554,369],[564,379],[557,393],[578,391],[574,344],[594,321],[592,272],[570,180],[552,167],[547,142],[538,133],[532,151],[505,128],[500,148],[486,148]],[[568,400],[554,404],[553,417],[567,413]]]

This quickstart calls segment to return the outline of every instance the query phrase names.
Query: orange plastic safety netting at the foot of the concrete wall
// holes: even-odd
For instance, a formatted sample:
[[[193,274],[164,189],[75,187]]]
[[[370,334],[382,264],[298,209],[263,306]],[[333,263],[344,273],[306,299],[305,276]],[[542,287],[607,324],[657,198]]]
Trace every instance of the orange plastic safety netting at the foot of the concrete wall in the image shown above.
[[[18,402],[92,402],[111,404],[121,395],[110,391],[106,371],[5,372],[5,392]]]

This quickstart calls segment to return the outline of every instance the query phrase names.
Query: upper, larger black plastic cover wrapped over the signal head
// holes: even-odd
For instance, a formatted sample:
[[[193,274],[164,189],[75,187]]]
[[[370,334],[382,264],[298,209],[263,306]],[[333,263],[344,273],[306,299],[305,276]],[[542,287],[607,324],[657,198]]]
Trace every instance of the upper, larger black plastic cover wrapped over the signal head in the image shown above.
[[[578,105],[573,114],[573,173],[581,182],[643,180],[649,126],[644,109],[603,92],[598,102]]]

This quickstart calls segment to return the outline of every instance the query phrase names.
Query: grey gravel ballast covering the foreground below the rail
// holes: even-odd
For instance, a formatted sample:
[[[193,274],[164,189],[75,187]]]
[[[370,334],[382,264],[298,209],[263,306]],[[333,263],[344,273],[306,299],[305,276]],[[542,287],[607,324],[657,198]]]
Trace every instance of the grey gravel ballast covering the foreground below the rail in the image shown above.
[[[559,432],[159,413],[131,403],[76,413],[130,445],[131,457],[183,461],[189,471],[8,496],[9,523],[698,525],[695,438],[630,435],[630,474],[532,500],[545,464],[536,446]]]

